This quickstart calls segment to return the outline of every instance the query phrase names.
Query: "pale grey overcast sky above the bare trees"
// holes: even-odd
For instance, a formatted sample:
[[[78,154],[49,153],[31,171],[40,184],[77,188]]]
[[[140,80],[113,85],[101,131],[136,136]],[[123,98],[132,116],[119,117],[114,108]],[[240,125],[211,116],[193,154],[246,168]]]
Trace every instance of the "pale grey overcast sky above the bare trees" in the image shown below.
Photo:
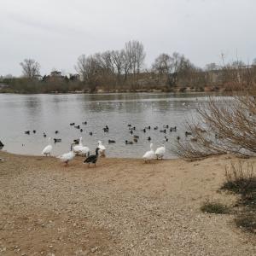
[[[162,52],[184,54],[195,65],[220,54],[256,57],[255,0],[0,0],[0,75],[21,74],[33,58],[41,74],[73,73],[79,55],[121,49],[139,40],[146,64]]]

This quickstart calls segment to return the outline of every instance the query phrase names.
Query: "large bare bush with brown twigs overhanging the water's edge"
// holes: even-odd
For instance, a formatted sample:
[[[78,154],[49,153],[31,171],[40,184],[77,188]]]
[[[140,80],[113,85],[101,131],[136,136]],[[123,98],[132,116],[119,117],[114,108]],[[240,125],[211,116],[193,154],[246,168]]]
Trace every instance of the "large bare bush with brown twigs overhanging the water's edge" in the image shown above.
[[[256,97],[247,95],[209,97],[199,104],[195,119],[186,125],[191,137],[178,141],[173,148],[185,160],[211,155],[256,153]]]

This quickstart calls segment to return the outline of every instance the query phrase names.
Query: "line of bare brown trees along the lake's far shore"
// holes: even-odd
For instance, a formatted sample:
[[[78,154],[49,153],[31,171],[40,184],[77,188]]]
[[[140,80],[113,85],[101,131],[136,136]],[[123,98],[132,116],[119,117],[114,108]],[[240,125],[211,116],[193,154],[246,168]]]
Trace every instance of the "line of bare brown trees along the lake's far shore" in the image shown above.
[[[177,52],[160,54],[150,68],[145,68],[145,50],[139,41],[129,41],[119,50],[107,50],[94,55],[80,55],[76,74],[69,76],[53,70],[40,75],[40,64],[32,59],[20,63],[22,77],[0,77],[2,92],[96,92],[96,91],[183,91],[234,90],[236,84],[256,83],[256,60],[252,65],[233,61],[218,66],[207,64],[202,69]],[[2,84],[2,86],[1,86]]]

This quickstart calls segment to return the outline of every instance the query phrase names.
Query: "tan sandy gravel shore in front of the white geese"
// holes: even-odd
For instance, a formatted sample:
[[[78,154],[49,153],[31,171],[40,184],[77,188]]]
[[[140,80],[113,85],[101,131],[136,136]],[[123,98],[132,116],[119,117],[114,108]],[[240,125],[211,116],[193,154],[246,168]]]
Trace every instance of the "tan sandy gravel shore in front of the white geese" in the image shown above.
[[[51,157],[0,152],[0,255],[256,255],[232,215],[200,211],[230,157],[101,159],[65,168]]]

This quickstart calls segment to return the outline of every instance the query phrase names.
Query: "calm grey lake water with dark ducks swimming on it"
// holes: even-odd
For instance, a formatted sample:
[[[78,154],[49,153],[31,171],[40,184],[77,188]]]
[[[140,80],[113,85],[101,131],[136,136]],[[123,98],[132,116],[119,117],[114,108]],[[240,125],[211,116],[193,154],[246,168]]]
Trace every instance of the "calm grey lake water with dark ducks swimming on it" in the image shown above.
[[[101,140],[108,157],[140,158],[149,149],[148,137],[156,148],[166,136],[166,158],[173,158],[172,144],[177,136],[184,137],[185,119],[194,115],[198,102],[205,101],[205,94],[0,94],[0,141],[5,145],[3,150],[8,152],[40,155],[48,145],[47,137],[61,138],[61,143],[52,141],[52,154],[59,155],[69,151],[73,139],[83,137],[83,144],[91,153]],[[83,121],[87,121],[87,125],[82,125]],[[73,122],[80,125],[83,132],[69,125]],[[125,140],[132,141],[128,124],[136,126],[134,134],[139,136],[138,142],[132,145],[125,145]],[[109,127],[108,133],[102,130],[105,125]],[[141,131],[148,125],[150,131]],[[159,130],[154,131],[156,125]],[[177,132],[160,133],[163,125],[177,126]],[[30,135],[25,134],[27,130],[31,131]],[[37,132],[33,134],[32,130]],[[55,134],[56,130],[59,134]],[[108,139],[116,143],[108,144]]]

